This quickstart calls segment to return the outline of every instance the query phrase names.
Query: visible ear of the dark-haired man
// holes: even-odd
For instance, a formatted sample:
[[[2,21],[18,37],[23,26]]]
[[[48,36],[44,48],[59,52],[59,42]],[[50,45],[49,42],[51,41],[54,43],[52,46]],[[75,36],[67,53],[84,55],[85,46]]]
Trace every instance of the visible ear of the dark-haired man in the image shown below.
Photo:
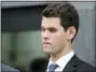
[[[67,30],[67,39],[72,40],[76,35],[76,32],[77,32],[77,30],[76,30],[74,26],[69,27]]]

